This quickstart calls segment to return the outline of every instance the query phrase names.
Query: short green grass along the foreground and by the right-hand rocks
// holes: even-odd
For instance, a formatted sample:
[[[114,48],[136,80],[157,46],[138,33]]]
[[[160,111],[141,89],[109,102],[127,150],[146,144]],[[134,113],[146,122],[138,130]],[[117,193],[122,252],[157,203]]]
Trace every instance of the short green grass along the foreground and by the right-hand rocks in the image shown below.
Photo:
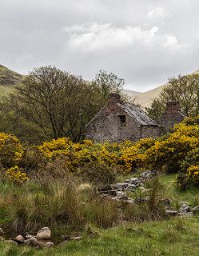
[[[188,201],[199,204],[198,190],[177,190],[174,175],[160,177],[160,193],[172,199],[172,205]],[[1,190],[5,190],[6,186]],[[199,219],[173,218],[162,222],[128,223],[110,230],[97,230],[97,238],[83,238],[80,242],[69,242],[65,247],[49,250],[32,250],[30,247],[15,247],[0,244],[0,256],[4,255],[70,255],[70,256],[114,256],[114,255],[199,255]]]

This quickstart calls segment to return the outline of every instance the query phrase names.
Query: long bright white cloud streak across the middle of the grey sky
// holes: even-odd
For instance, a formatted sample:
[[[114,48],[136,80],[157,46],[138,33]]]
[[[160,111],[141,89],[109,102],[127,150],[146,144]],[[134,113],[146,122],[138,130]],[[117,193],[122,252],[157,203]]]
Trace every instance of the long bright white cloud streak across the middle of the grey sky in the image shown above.
[[[146,30],[141,26],[113,26],[110,23],[94,22],[66,26],[63,30],[68,36],[66,47],[85,54],[125,50],[129,46],[139,46],[142,50],[148,48],[157,50],[160,47],[167,50],[181,50],[186,46],[178,43],[177,38],[172,34],[161,34],[157,26]]]

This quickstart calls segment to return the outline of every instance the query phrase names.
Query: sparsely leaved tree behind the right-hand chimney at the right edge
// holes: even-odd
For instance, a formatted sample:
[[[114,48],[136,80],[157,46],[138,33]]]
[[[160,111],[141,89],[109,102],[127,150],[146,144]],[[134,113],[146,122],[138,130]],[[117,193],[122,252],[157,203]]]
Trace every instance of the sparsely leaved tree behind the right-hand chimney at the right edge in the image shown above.
[[[146,109],[151,118],[157,119],[165,111],[165,103],[178,101],[182,112],[187,116],[195,116],[199,113],[199,74],[178,75],[177,78],[169,78],[168,86],[165,86],[158,98],[155,98],[150,108]]]

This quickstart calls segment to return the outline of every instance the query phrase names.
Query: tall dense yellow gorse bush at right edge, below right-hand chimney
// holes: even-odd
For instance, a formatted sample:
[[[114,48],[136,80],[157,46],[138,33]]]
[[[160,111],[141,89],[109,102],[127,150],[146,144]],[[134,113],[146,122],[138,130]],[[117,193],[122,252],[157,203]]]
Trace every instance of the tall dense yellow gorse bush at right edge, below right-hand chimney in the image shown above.
[[[154,145],[145,151],[146,166],[158,170],[164,167],[169,173],[181,171],[181,162],[192,150],[199,147],[199,126],[188,123],[185,119],[185,122],[175,126],[172,134],[158,138]]]

